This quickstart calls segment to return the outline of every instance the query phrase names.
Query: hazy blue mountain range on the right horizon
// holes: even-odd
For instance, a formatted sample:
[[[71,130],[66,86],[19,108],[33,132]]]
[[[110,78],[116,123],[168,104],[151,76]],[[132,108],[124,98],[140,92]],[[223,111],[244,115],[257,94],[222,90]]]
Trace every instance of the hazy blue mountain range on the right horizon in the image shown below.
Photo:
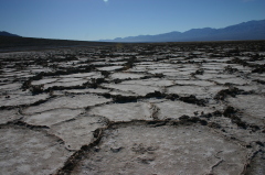
[[[265,40],[265,20],[248,21],[223,29],[192,29],[186,32],[170,32],[158,35],[139,35],[100,40],[102,42],[193,42],[193,41],[241,41]]]

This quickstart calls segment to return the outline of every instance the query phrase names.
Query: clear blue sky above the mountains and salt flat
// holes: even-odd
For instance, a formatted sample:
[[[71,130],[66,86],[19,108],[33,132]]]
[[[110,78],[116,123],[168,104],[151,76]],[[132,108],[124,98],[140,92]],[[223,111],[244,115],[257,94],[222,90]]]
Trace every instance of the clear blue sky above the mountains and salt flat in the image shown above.
[[[0,31],[95,41],[265,20],[265,0],[0,0]]]

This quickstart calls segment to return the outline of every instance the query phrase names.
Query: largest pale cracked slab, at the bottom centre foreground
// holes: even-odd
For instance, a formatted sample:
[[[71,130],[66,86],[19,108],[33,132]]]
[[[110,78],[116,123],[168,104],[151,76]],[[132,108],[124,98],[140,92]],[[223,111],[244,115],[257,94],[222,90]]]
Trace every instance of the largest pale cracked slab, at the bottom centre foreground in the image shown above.
[[[109,129],[85,156],[73,174],[241,174],[248,158],[245,147],[202,125]]]

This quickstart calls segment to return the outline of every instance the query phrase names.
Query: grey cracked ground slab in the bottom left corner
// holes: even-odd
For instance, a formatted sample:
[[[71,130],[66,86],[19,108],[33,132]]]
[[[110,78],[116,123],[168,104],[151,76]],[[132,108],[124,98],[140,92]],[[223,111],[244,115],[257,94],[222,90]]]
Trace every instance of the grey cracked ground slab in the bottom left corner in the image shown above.
[[[57,138],[20,127],[0,128],[1,174],[52,174],[68,152]]]

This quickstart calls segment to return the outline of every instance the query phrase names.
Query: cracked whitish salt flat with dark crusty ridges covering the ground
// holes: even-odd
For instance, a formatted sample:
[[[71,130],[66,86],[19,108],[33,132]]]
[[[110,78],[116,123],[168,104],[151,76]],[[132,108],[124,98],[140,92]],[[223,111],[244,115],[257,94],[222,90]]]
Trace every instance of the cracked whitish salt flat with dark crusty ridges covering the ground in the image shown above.
[[[265,174],[265,42],[0,61],[0,174]]]

